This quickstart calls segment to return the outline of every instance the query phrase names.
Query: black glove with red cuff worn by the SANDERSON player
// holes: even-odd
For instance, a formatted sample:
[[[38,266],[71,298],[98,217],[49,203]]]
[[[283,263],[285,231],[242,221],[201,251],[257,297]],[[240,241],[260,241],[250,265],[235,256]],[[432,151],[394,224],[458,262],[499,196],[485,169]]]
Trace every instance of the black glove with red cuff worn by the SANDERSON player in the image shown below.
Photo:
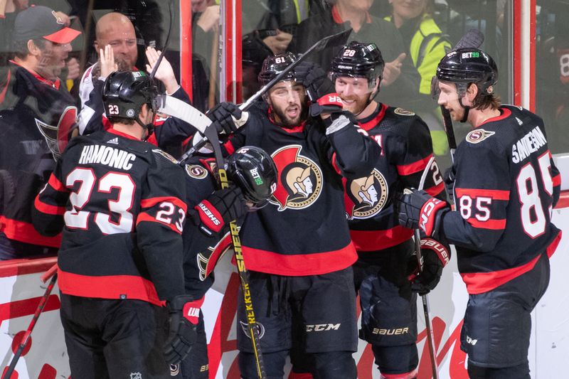
[[[437,236],[442,215],[446,212],[447,202],[432,198],[425,191],[415,188],[405,189],[395,202],[398,207],[399,224],[404,228],[420,228],[427,237]]]

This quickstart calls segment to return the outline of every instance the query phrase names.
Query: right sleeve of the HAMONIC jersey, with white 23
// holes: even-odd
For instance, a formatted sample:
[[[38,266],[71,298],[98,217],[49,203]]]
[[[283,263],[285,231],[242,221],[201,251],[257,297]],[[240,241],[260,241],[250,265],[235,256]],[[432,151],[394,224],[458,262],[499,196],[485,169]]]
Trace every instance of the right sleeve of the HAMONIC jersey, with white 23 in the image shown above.
[[[158,154],[156,154],[158,155]],[[181,233],[186,220],[184,172],[161,156],[149,169],[137,217],[137,245],[161,300],[184,294]]]

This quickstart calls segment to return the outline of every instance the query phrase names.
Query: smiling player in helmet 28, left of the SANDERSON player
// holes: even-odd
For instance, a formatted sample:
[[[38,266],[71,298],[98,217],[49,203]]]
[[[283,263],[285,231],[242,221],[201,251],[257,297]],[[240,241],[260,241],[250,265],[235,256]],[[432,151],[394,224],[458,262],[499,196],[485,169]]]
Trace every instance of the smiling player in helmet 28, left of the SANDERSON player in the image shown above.
[[[374,43],[353,41],[332,60],[330,75],[344,109],[381,145],[375,168],[344,182],[350,235],[358,251],[353,276],[362,310],[360,338],[371,343],[382,378],[407,379],[417,375],[416,293],[435,288],[450,256],[439,242],[422,240],[423,271],[415,275],[413,230],[399,225],[393,193],[418,187],[425,170],[427,193],[444,199],[445,187],[436,162],[428,166],[433,154],[425,122],[413,112],[373,100],[383,65]],[[402,332],[391,332],[395,330]]]

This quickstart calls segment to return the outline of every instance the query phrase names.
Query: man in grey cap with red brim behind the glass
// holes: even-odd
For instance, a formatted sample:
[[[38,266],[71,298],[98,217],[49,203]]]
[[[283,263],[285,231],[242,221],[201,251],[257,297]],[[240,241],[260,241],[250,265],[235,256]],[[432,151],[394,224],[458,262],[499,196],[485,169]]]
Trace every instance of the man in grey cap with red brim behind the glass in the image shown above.
[[[58,129],[76,121],[75,101],[58,75],[79,34],[46,6],[14,21],[15,57],[0,103],[0,259],[55,254],[60,244],[60,235],[36,233],[30,210],[55,166]]]

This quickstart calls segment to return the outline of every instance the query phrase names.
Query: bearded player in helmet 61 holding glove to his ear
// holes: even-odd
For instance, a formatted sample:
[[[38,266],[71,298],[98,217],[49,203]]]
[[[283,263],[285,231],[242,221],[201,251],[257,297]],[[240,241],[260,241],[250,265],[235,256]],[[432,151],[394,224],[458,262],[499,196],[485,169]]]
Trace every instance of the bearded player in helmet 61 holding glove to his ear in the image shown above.
[[[290,53],[266,58],[260,80],[266,84],[295,59]],[[269,205],[249,213],[241,233],[267,378],[284,375],[292,333],[312,358],[317,378],[356,378],[356,250],[342,180],[371,172],[381,149],[358,133],[332,90],[323,70],[301,63],[267,92],[265,102],[250,108],[248,122],[225,144],[228,151],[260,146],[279,171]],[[312,116],[308,96],[319,99]],[[255,356],[239,299],[239,367],[243,378],[253,379]]]

